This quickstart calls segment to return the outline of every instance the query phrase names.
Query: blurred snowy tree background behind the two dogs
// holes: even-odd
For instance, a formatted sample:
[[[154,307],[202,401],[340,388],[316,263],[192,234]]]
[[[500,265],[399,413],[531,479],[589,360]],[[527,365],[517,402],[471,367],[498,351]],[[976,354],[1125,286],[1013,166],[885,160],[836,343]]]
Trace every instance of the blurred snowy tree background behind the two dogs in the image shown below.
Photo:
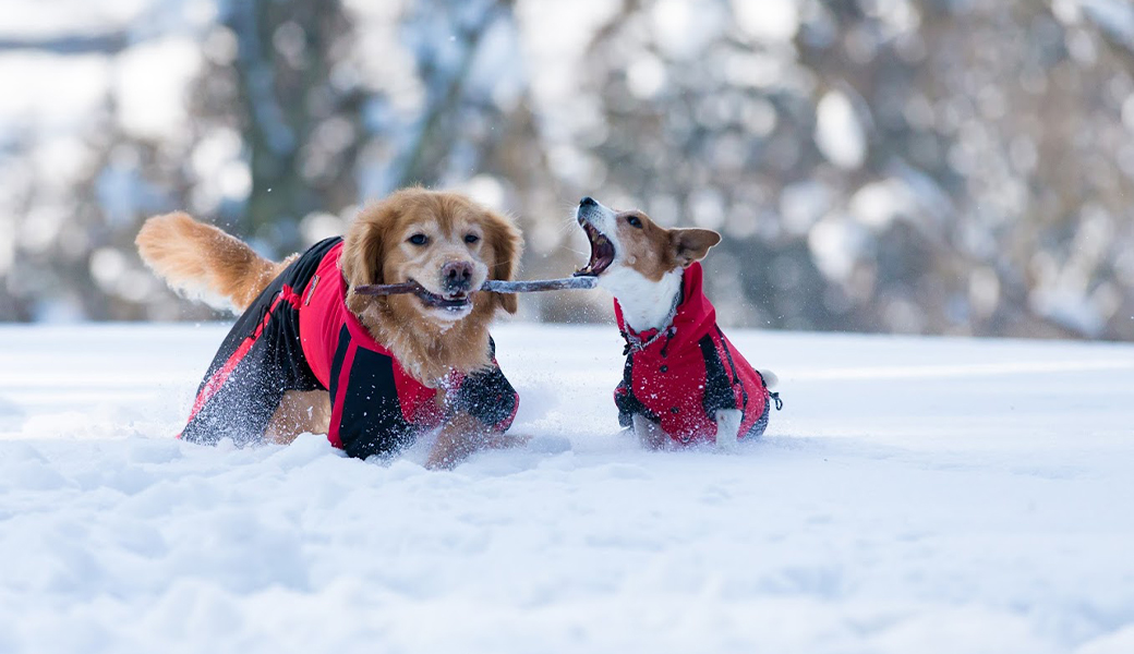
[[[278,257],[412,184],[586,260],[582,195],[725,235],[721,322],[1134,339],[1127,0],[3,0],[0,320],[202,320],[184,209]],[[525,296],[522,320],[609,298]]]

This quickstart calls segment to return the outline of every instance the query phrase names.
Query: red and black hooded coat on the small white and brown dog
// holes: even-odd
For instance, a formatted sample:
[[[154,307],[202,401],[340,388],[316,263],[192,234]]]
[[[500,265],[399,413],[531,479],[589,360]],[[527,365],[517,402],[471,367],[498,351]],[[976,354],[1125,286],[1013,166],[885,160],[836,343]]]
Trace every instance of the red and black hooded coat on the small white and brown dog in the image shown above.
[[[674,320],[660,331],[631,330],[615,300],[618,329],[627,342],[623,381],[615,389],[624,427],[640,414],[679,443],[714,442],[718,409],[743,411],[742,439],[758,436],[768,426],[769,401],[778,405],[779,397],[717,326],[702,275],[700,263],[685,270]]]

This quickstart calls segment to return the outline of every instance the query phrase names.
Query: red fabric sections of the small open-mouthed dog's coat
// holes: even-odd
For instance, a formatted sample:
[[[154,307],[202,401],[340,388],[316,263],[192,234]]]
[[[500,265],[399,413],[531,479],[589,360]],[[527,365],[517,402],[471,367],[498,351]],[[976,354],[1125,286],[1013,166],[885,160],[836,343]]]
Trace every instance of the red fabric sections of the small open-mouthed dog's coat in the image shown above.
[[[685,270],[682,280],[683,299],[674,316],[671,338],[663,336],[644,350],[629,354],[633,358],[634,396],[660,418],[662,430],[682,443],[713,442],[717,438],[716,417],[704,409],[709,383],[700,342],[706,336],[712,339],[725,366],[736,408],[744,409],[741,435],[748,433],[768,404],[768,390],[760,373],[717,328],[717,311],[705,297],[702,282],[701,264],[694,263]],[[657,333],[657,330],[649,330],[635,334],[626,325],[618,300],[615,300],[615,316],[624,333],[634,334],[643,342]],[[744,404],[745,396],[747,406]]]

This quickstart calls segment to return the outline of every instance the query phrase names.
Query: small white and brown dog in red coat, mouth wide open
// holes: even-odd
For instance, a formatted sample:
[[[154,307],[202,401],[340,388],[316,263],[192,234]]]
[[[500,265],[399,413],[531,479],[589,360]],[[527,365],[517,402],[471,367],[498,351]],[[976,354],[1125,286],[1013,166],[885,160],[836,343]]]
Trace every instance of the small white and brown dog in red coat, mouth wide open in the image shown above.
[[[735,447],[768,426],[775,375],[761,373],[717,326],[697,263],[720,235],[666,229],[641,211],[584,197],[576,212],[591,241],[592,275],[615,296],[626,366],[615,390],[618,419],[650,448]]]

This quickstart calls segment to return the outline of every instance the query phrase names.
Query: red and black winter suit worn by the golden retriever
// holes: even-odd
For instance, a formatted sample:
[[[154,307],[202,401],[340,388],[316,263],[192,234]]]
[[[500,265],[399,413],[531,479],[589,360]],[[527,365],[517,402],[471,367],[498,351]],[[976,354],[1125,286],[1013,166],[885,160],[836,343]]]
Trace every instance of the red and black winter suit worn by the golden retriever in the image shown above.
[[[341,238],[312,246],[237,318],[197,391],[181,438],[262,438],[288,390],[327,390],[330,442],[354,457],[396,451],[457,410],[503,432],[519,396],[500,367],[454,373],[438,389],[409,376],[346,306]]]

